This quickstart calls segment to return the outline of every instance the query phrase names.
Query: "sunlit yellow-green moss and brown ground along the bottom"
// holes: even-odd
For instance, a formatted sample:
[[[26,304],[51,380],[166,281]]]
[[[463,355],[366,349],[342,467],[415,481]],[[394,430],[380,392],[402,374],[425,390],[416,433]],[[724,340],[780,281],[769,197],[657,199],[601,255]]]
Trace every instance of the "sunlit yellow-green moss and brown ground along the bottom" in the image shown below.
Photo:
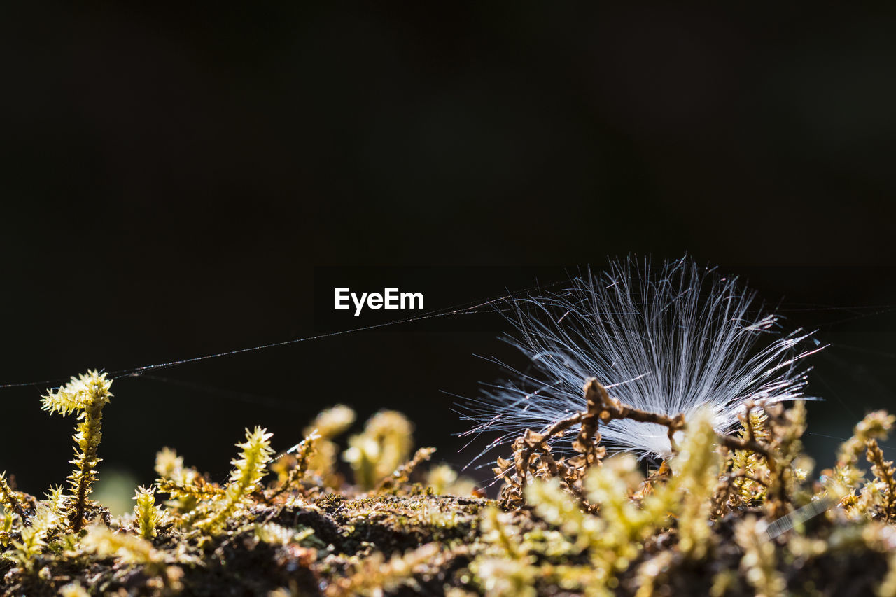
[[[45,403],[72,412],[110,395],[91,372]],[[246,429],[223,485],[163,449],[155,486],[115,517],[90,499],[98,408],[79,424],[71,493],[39,499],[0,475],[0,595],[896,597],[896,471],[877,444],[896,418],[867,415],[813,476],[800,402],[748,406],[739,434],[719,436],[711,411],[632,411],[595,380],[585,397],[587,410],[513,442],[495,469],[499,500],[428,466],[432,448],[411,455],[413,427],[393,411],[349,437],[347,480],[335,437],[354,412],[334,407],[280,454],[271,434]],[[599,444],[602,421],[632,416],[680,432],[646,475]],[[555,454],[552,440],[572,436]]]

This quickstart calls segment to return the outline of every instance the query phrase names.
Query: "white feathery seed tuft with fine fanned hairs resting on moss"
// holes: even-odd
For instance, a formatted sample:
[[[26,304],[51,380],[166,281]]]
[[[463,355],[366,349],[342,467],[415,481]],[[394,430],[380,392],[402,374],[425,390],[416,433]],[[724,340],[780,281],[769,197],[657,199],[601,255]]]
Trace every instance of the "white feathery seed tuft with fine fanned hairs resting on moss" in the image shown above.
[[[780,317],[756,302],[737,279],[688,257],[656,269],[629,257],[600,275],[574,278],[566,290],[513,299],[508,318],[516,334],[508,341],[531,368],[511,368],[511,381],[467,404],[465,418],[475,426],[463,435],[499,432],[488,450],[526,428],[545,430],[585,409],[589,377],[644,411],[685,413],[686,420],[710,405],[722,434],[737,428],[748,400],[806,399],[808,369],[799,363],[823,347],[797,350],[812,333],[780,333]],[[610,451],[671,452],[668,429],[653,423],[612,420],[600,434]]]

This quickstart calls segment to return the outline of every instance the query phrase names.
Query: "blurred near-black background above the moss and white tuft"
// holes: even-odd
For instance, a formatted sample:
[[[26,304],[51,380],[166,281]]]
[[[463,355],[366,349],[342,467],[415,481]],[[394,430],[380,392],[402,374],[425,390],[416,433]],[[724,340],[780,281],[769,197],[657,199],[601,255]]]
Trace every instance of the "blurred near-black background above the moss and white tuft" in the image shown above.
[[[0,390],[22,489],[70,468],[47,386],[314,334],[322,265],[541,282],[687,251],[834,342],[814,433],[892,405],[892,13],[322,4],[0,8],[0,383],[47,380]],[[455,268],[427,305],[535,283],[499,271]],[[500,376],[474,353],[515,358],[483,321],[120,379],[103,466],[147,483],[169,445],[223,478],[243,428],[287,447],[335,402],[466,462],[444,392]]]

